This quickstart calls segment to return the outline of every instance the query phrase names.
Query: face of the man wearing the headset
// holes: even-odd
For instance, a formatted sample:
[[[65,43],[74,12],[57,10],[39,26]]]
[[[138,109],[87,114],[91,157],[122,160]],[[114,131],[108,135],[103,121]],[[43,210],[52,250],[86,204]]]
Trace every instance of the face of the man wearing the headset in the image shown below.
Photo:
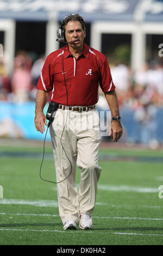
[[[67,42],[73,41],[74,46],[83,47],[85,38],[85,31],[83,31],[82,24],[79,21],[68,21],[65,26],[65,36]]]

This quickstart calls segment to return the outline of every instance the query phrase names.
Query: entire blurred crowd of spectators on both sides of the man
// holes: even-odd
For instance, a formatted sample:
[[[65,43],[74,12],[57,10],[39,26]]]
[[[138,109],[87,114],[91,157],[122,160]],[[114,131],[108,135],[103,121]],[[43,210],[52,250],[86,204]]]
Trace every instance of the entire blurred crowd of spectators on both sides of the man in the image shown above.
[[[12,74],[8,75],[3,59],[0,59],[0,100],[10,102],[34,101],[36,84],[45,56],[33,60],[26,52],[17,53]],[[152,60],[142,69],[133,72],[122,63],[111,65],[112,80],[120,107],[137,109],[142,105],[163,107],[163,63]],[[103,95],[99,92],[99,95]],[[103,99],[103,97],[102,97]],[[104,103],[101,99],[101,105]]]

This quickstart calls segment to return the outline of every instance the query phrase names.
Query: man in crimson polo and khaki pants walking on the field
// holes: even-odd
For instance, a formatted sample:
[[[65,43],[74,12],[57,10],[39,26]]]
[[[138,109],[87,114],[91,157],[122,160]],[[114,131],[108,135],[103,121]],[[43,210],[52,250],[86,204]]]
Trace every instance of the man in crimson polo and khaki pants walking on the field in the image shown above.
[[[111,109],[110,135],[117,142],[122,135],[118,101],[106,57],[84,43],[85,23],[78,14],[67,15],[61,32],[69,42],[47,57],[37,83],[35,127],[43,133],[47,120],[43,114],[49,92],[59,103],[50,126],[57,181],[59,214],[64,229],[93,227],[97,182],[101,174],[98,150],[101,142],[95,104],[98,85]],[[66,125],[68,129],[66,129]],[[77,127],[78,125],[78,127]],[[82,128],[81,128],[82,127]],[[81,170],[80,187],[75,184],[76,164]]]

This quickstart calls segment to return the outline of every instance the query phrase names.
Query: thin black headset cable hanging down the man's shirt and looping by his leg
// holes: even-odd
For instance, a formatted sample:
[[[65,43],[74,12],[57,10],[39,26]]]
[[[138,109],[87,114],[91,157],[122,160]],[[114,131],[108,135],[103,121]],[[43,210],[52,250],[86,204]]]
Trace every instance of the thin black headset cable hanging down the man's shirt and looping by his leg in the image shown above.
[[[63,51],[63,48],[62,48],[62,51]],[[64,84],[65,84],[65,88],[66,88],[66,99],[67,99],[67,106],[68,106],[68,92],[67,92],[67,87],[66,87],[66,79],[65,79],[65,72],[64,72],[64,64],[63,64],[63,59],[62,59],[62,54],[61,54],[61,60],[62,60],[62,70],[63,70],[63,73],[64,73]],[[68,117],[68,111],[67,111],[67,117]],[[66,122],[65,122],[65,126],[66,126],[66,123],[67,123],[67,117],[66,117]],[[48,123],[48,126],[47,126],[47,130],[46,130],[46,135],[47,135],[47,131],[48,131],[48,127],[51,125],[52,121],[49,121]],[[62,134],[61,134],[61,138],[60,138],[60,143],[61,143],[61,146],[62,146],[62,149],[64,150],[65,152],[65,155],[68,159],[68,161],[70,162],[70,165],[71,165],[71,171],[70,171],[70,174],[64,179],[66,180],[72,173],[72,164],[71,164],[71,161],[70,159],[68,158],[67,154],[66,154],[66,151],[62,145],[62,135],[64,133],[64,130],[65,130],[65,126],[64,126],[64,129],[62,131]],[[43,163],[43,159],[44,159],[44,156],[45,156],[45,139],[46,139],[46,135],[45,135],[45,138],[44,138],[44,141],[43,141],[43,156],[42,156],[42,162],[41,162],[41,166],[40,166],[40,178],[44,181],[48,181],[48,182],[51,182],[51,183],[54,183],[54,184],[58,184],[58,183],[61,183],[62,181],[64,180],[61,180],[59,182],[54,182],[54,181],[50,181],[50,180],[45,180],[41,177],[41,167],[42,167],[42,163]]]

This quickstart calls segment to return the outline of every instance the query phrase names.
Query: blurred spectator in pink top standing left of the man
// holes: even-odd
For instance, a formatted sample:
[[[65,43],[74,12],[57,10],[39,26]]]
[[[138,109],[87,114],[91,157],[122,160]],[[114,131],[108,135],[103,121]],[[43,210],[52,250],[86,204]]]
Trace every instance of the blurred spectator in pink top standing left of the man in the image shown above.
[[[26,102],[29,100],[29,92],[32,89],[32,77],[30,74],[30,59],[24,53],[15,57],[11,88],[14,93],[15,102]]]

